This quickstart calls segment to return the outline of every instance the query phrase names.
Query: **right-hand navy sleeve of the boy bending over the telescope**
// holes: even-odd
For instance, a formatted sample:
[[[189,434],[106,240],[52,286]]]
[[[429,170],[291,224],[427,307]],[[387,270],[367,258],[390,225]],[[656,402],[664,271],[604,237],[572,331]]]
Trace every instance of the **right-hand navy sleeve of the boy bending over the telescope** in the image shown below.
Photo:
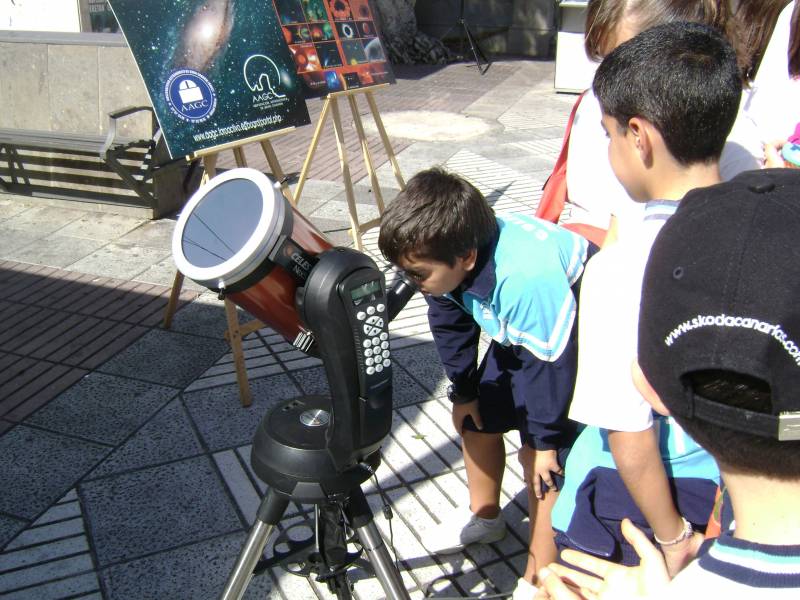
[[[527,349],[514,346],[520,368],[514,373],[514,395],[522,399],[527,413],[526,442],[537,450],[569,446],[576,424],[567,418],[575,388],[578,357],[574,336],[554,361],[536,358]]]

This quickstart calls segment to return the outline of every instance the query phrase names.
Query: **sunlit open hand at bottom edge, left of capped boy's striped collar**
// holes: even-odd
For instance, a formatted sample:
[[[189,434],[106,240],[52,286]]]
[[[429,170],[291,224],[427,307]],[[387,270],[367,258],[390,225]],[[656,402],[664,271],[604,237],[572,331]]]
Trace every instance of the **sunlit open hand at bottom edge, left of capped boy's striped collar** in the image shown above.
[[[594,575],[554,563],[539,573],[540,589],[549,594],[541,598],[635,599],[648,598],[661,590],[670,581],[664,556],[628,519],[622,521],[622,534],[641,559],[638,567],[625,567],[576,550],[564,550],[561,558]]]

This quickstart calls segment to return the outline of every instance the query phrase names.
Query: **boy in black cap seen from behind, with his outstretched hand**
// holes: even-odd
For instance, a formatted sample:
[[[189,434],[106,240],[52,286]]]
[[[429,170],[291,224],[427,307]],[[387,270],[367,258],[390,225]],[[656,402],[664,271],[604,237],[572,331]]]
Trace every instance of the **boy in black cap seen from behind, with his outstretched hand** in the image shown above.
[[[720,598],[800,597],[798,239],[800,172],[751,171],[690,192],[645,271],[634,380],[716,459],[732,529],[666,587],[655,549],[629,524],[644,567],[565,551],[605,581],[552,570],[616,598],[693,598],[701,589]],[[619,589],[625,580],[638,591]],[[549,571],[540,581],[540,597],[576,597]]]

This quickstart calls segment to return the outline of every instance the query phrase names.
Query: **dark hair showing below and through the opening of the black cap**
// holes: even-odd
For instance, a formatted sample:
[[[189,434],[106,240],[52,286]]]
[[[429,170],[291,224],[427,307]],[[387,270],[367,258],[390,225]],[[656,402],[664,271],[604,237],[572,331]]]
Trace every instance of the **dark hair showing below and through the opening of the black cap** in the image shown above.
[[[734,371],[706,370],[687,374],[684,382],[696,396],[712,402],[756,414],[772,412],[769,385],[761,379]],[[662,397],[662,401],[672,410],[675,403],[669,396]],[[683,417],[677,413],[674,417],[686,433],[730,473],[773,479],[800,477],[800,441],[781,442],[704,419]]]

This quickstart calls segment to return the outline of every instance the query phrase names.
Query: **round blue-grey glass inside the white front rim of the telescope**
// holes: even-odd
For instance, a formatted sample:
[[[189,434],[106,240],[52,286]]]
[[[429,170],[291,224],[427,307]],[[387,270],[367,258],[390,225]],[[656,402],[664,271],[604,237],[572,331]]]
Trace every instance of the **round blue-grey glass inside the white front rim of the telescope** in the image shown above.
[[[215,267],[230,260],[253,237],[264,203],[249,179],[231,179],[211,190],[191,212],[184,228],[186,260]]]

